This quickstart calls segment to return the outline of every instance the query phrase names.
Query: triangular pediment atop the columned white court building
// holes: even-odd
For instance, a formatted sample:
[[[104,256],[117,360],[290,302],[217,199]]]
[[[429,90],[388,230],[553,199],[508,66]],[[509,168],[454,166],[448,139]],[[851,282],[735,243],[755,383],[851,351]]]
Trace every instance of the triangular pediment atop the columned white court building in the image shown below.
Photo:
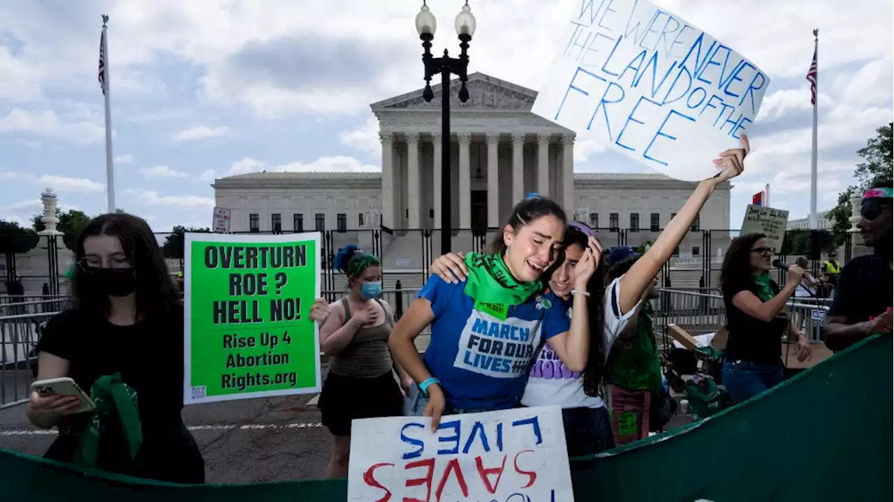
[[[495,79],[484,73],[468,76],[468,101],[460,103],[460,80],[452,79],[450,88],[451,109],[453,110],[511,110],[529,112],[537,97],[536,91],[523,88],[506,80]],[[394,96],[370,105],[373,113],[404,110],[440,110],[441,85],[432,86],[434,99],[426,103],[422,97],[423,88]]]

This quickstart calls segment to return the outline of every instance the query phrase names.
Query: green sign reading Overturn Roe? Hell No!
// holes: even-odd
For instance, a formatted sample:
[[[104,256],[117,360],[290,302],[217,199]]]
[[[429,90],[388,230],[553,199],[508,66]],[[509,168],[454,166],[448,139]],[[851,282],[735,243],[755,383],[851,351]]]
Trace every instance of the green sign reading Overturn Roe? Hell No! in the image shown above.
[[[183,402],[319,392],[320,237],[187,233]]]

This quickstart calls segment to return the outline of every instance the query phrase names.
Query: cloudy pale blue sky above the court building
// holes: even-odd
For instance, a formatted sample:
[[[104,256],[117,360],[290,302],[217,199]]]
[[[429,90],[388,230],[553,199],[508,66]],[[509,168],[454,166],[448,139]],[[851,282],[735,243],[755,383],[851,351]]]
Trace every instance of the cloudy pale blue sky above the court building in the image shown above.
[[[470,71],[537,89],[579,0],[470,0]],[[117,205],[156,231],[208,226],[216,178],[263,169],[378,170],[368,105],[421,87],[421,0],[6,0],[0,2],[0,219],[26,221],[43,188],[63,208],[105,209],[100,14],[111,16]],[[430,0],[434,47],[457,47],[461,0]],[[736,180],[731,228],[751,195],[809,211],[810,92],[820,29],[819,206],[851,180],[856,149],[894,121],[894,56],[882,0],[657,0],[772,77]],[[576,169],[643,172],[580,142]]]

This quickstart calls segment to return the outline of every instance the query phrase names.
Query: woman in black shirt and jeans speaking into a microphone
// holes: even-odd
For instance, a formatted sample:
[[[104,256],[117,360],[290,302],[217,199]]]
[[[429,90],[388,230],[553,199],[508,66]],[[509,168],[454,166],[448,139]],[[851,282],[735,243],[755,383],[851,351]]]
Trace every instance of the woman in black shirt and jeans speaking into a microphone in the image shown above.
[[[785,310],[804,270],[789,267],[783,289],[770,279],[773,249],[763,234],[734,238],[723,258],[721,289],[730,339],[724,351],[723,385],[741,403],[784,379],[782,337],[797,338],[797,359],[811,356],[810,344]]]

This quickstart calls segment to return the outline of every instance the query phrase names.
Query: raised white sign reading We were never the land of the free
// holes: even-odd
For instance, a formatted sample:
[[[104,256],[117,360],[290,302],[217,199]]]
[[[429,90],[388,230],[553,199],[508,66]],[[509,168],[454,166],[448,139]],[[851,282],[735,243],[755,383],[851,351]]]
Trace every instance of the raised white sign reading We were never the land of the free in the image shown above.
[[[532,112],[678,180],[755,120],[770,78],[720,41],[645,0],[576,0]]]

